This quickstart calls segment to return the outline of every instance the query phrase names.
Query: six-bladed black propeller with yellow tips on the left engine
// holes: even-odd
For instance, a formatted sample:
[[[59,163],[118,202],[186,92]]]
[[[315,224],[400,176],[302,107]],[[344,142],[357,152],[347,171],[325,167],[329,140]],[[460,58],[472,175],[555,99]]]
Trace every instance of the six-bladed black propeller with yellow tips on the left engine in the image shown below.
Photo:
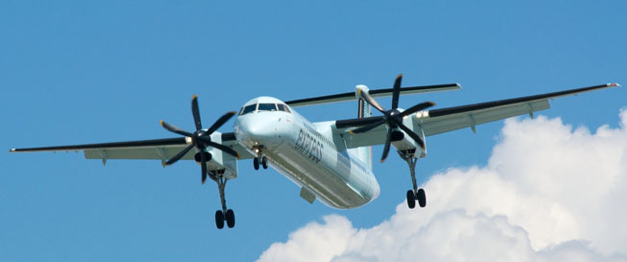
[[[192,115],[194,116],[194,124],[196,125],[196,132],[189,133],[180,128],[177,128],[176,126],[168,124],[164,122],[163,120],[159,121],[159,123],[161,123],[161,126],[167,129],[167,131],[180,134],[181,136],[186,136],[187,138],[191,139],[191,142],[192,142],[191,144],[187,145],[186,148],[182,149],[181,152],[177,153],[176,155],[172,156],[172,158],[168,159],[164,163],[164,165],[169,166],[171,164],[174,164],[176,163],[176,161],[179,161],[179,159],[181,159],[185,154],[187,154],[189,150],[191,150],[192,148],[198,148],[198,150],[201,151],[200,160],[201,160],[201,168],[203,172],[202,182],[204,184],[204,182],[207,180],[207,161],[211,160],[211,159],[207,159],[207,154],[204,154],[206,148],[211,146],[213,148],[217,148],[223,151],[224,153],[231,154],[239,159],[240,155],[233,149],[229,148],[228,146],[224,146],[223,144],[218,144],[218,143],[211,141],[211,134],[213,134],[216,130],[218,130],[218,128],[220,128],[220,126],[226,123],[226,121],[231,119],[231,117],[233,117],[234,114],[236,114],[236,112],[234,111],[224,114],[218,119],[218,121],[216,121],[216,123],[213,123],[213,125],[210,128],[208,128],[207,130],[203,130],[203,124],[200,121],[200,112],[198,109],[198,96],[194,94],[194,98],[192,98]]]

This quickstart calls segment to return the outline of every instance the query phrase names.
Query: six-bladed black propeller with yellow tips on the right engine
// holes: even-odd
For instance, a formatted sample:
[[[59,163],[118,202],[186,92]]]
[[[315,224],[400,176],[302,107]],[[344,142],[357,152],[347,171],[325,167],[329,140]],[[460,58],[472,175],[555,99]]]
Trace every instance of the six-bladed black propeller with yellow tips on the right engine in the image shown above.
[[[418,134],[414,133],[414,131],[411,131],[411,129],[409,129],[407,126],[403,124],[403,118],[405,116],[409,116],[410,114],[416,113],[423,109],[429,108],[431,106],[435,106],[435,103],[423,102],[420,104],[416,104],[415,106],[412,106],[411,108],[403,112],[399,111],[398,110],[398,98],[401,93],[401,80],[402,79],[403,79],[403,74],[399,74],[396,77],[396,81],[394,81],[394,89],[392,93],[392,109],[389,109],[389,110],[386,110],[385,108],[381,106],[381,104],[377,103],[377,101],[374,100],[374,98],[372,98],[370,94],[366,92],[362,92],[362,90],[359,89],[359,95],[361,96],[361,98],[363,98],[366,101],[366,103],[370,104],[373,108],[376,108],[377,110],[379,110],[379,112],[383,114],[383,118],[380,121],[369,124],[367,126],[362,126],[361,128],[352,129],[349,132],[352,134],[365,133],[367,131],[370,131],[371,129],[376,128],[377,126],[380,126],[381,124],[386,124],[387,125],[387,137],[386,137],[385,146],[383,148],[383,154],[381,156],[381,163],[383,163],[383,161],[386,161],[387,154],[389,153],[389,150],[390,150],[392,134],[394,132],[394,129],[396,128],[402,129],[405,133],[411,136],[411,138],[413,138],[414,141],[416,141],[416,143],[418,143],[418,145],[424,150],[423,139],[420,138]]]

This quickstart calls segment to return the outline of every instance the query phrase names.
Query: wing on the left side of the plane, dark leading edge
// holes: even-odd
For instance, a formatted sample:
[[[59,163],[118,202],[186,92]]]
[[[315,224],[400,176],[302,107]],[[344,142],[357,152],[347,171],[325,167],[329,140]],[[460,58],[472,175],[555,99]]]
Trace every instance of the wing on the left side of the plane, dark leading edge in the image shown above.
[[[253,156],[241,147],[235,140],[233,133],[221,134],[222,142],[237,151],[241,159]],[[97,144],[75,144],[68,146],[48,146],[43,148],[12,148],[11,153],[39,152],[39,151],[83,151],[87,159],[161,159],[165,161],[179,153],[187,146],[186,138],[164,138],[137,141],[123,141]],[[194,159],[194,151],[189,151],[181,159]]]

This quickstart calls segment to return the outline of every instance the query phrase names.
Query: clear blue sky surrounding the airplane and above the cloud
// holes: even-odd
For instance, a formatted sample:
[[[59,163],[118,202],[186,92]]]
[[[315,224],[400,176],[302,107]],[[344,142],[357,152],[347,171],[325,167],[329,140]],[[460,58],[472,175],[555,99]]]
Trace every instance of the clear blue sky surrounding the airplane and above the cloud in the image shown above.
[[[624,1],[336,2],[4,1],[0,148],[167,138],[159,119],[191,129],[193,94],[211,123],[255,96],[389,88],[398,73],[405,86],[464,88],[403,96],[404,108],[627,84]],[[542,114],[615,127],[626,98],[624,88],[583,94],[557,99]],[[298,111],[323,121],[352,118],[354,107]],[[485,165],[502,126],[429,138],[420,180]],[[2,261],[250,261],[327,214],[357,228],[379,224],[411,186],[406,164],[391,157],[374,164],[380,198],[341,211],[306,203],[280,174],[242,161],[226,192],[236,228],[217,230],[217,187],[201,186],[193,163],[103,168],[82,153],[5,153],[0,164]]]

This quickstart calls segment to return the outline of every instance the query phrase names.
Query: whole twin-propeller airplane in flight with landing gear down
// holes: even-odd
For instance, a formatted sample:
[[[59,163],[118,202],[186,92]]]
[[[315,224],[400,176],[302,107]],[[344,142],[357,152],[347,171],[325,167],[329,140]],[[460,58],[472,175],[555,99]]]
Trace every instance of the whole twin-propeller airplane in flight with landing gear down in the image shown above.
[[[383,144],[381,163],[391,146],[407,162],[413,187],[407,191],[408,207],[426,206],[426,194],[416,183],[416,161],[426,157],[426,138],[462,128],[476,132],[478,124],[523,114],[531,118],[540,110],[549,109],[549,99],[615,88],[617,83],[486,103],[431,109],[432,102],[423,102],[409,109],[399,108],[401,94],[420,94],[461,89],[460,84],[439,84],[401,88],[402,74],[393,88],[369,89],[360,84],[354,92],[314,98],[282,101],[260,96],[246,102],[240,111],[228,112],[209,128],[201,123],[198,96],[191,101],[195,131],[184,131],[161,121],[161,126],[179,138],[122,141],[113,143],[76,144],[40,148],[11,148],[10,153],[34,151],[83,151],[87,159],[161,159],[164,166],[177,161],[194,160],[201,166],[201,183],[207,178],[218,185],[221,209],[215,214],[216,227],[235,225],[233,209],[226,206],[226,183],[238,177],[238,160],[253,159],[255,170],[268,166],[300,187],[300,197],[314,203],[350,209],[364,206],[379,196],[380,188],[372,173],[372,146]],[[375,97],[392,96],[389,109]],[[312,123],[295,108],[341,101],[357,101],[357,117]],[[372,116],[372,108],[381,113]],[[236,116],[233,132],[218,129]],[[194,149],[192,151],[192,149]]]

